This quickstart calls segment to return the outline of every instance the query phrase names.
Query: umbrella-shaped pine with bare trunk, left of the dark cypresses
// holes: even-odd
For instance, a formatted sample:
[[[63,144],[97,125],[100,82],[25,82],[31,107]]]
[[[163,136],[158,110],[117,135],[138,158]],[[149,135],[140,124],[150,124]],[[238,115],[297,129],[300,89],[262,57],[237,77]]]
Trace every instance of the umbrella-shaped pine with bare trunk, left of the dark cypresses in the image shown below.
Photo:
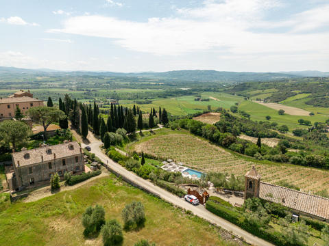
[[[47,139],[47,128],[51,123],[58,122],[65,118],[63,111],[53,107],[32,107],[27,111],[27,114],[34,120],[42,124],[43,134]]]

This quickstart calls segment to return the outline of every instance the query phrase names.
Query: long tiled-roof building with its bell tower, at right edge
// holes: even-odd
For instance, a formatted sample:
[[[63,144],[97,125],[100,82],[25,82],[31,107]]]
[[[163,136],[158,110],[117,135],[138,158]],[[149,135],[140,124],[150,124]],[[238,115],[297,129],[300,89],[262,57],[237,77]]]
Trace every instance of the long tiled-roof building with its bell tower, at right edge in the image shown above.
[[[260,181],[255,167],[245,174],[245,199],[259,197],[291,208],[296,215],[306,215],[329,222],[329,199],[276,184]]]

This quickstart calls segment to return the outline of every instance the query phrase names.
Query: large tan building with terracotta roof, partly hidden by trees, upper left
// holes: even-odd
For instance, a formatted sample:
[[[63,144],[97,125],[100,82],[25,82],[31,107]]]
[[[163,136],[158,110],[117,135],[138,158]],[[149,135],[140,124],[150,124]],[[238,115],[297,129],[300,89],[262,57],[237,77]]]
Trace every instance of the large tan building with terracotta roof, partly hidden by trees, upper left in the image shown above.
[[[8,98],[0,98],[0,120],[14,118],[17,106],[19,106],[25,115],[29,108],[43,106],[43,101],[33,98],[33,94],[23,90],[15,92],[11,96],[8,96]]]

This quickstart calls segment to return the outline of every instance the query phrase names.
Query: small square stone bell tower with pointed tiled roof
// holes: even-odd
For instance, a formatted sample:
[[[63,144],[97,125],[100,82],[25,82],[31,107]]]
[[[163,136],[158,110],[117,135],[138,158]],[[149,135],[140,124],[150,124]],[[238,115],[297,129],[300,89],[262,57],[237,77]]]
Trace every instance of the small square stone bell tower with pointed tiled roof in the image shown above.
[[[259,197],[260,175],[253,166],[252,169],[245,174],[245,199],[249,197]]]

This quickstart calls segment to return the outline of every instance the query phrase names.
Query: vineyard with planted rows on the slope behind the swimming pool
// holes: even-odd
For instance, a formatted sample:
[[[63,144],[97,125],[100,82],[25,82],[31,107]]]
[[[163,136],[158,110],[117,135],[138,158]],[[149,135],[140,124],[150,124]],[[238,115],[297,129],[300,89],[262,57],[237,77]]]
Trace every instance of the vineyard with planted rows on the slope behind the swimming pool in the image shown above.
[[[228,172],[242,176],[252,168],[252,165],[255,165],[265,182],[276,184],[283,180],[300,187],[302,191],[316,192],[323,189],[329,191],[329,175],[324,170],[297,165],[271,165],[245,161],[191,135],[174,133],[155,136],[136,144],[134,148],[137,152],[143,151],[160,159],[173,159],[203,172]]]

